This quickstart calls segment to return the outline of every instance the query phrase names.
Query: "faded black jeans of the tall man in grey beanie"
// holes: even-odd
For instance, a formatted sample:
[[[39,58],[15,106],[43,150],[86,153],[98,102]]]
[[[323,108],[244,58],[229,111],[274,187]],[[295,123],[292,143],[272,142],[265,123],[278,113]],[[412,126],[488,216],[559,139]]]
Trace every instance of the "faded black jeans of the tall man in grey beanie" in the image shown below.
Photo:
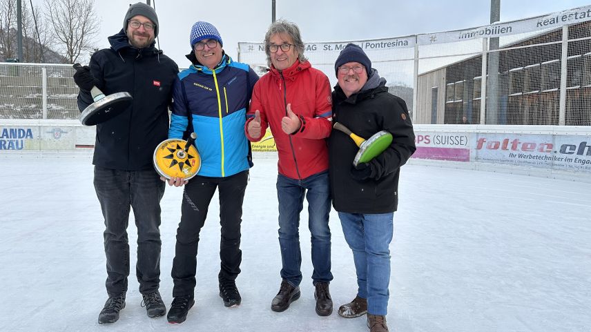
[[[157,291],[160,282],[160,199],[165,184],[155,170],[113,170],[95,166],[95,191],[105,218],[104,245],[108,295],[127,291],[127,226],[133,208],[137,226],[136,276],[139,292]]]

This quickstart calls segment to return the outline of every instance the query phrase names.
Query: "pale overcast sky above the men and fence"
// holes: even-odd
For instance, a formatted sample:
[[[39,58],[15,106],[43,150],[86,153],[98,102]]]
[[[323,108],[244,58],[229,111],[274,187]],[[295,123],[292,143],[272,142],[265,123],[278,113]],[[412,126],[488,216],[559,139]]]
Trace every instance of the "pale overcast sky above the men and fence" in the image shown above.
[[[108,47],[106,38],[122,28],[128,5],[135,2],[95,0],[102,22],[96,39],[99,48]],[[159,18],[159,47],[182,68],[188,66],[184,55],[191,50],[188,35],[195,21],[213,23],[224,50],[234,59],[239,41],[262,41],[271,23],[270,0],[151,2]],[[589,4],[589,0],[501,0],[501,21]],[[403,37],[485,26],[490,23],[490,0],[276,0],[275,17],[297,23],[304,42]]]

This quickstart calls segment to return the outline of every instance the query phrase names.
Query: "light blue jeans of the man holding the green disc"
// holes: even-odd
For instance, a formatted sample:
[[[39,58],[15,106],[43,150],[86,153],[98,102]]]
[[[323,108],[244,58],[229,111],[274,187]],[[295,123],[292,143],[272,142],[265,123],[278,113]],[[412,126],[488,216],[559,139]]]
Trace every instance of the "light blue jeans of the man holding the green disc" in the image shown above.
[[[390,249],[394,213],[359,214],[339,212],[342,233],[353,251],[357,295],[367,299],[367,312],[388,313]]]

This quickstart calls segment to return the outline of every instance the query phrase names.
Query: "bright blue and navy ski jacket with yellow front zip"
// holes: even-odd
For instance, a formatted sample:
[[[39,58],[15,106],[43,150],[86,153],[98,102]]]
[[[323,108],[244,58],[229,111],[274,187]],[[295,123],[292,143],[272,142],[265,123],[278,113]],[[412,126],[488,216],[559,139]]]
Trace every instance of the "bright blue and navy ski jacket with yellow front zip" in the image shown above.
[[[251,167],[244,124],[256,81],[254,70],[225,54],[214,70],[195,61],[178,74],[168,138],[182,138],[191,119],[201,157],[197,175],[228,177]]]

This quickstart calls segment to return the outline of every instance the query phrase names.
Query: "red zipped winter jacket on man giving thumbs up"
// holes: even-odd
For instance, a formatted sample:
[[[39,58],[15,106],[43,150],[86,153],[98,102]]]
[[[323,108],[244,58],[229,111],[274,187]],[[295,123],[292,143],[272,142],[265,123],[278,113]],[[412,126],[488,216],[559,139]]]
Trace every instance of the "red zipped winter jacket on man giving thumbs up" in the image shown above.
[[[287,116],[287,104],[300,117],[301,128],[287,135],[281,119]],[[271,127],[279,153],[279,173],[292,179],[305,179],[329,168],[327,140],[332,128],[331,87],[327,75],[312,68],[309,61],[296,61],[282,70],[271,70],[255,84],[244,130],[260,111],[261,133]]]

